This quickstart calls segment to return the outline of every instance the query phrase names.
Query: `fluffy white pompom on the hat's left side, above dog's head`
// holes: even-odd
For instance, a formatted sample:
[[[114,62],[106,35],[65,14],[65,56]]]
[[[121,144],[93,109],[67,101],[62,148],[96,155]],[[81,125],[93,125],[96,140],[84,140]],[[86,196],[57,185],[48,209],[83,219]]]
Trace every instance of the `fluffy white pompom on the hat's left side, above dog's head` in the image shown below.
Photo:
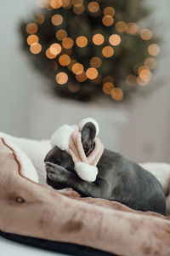
[[[71,125],[63,125],[54,132],[50,139],[51,146],[57,146],[61,150],[69,148],[69,139],[74,128]]]

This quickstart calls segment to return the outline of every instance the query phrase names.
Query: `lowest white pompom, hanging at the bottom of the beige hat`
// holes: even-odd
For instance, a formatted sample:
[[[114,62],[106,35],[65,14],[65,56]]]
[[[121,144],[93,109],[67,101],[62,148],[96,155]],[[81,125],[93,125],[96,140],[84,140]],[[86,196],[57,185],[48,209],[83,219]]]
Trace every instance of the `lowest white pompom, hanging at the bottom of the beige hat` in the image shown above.
[[[77,175],[83,180],[88,182],[94,182],[98,175],[98,168],[96,166],[90,166],[86,163],[79,162],[75,165]]]

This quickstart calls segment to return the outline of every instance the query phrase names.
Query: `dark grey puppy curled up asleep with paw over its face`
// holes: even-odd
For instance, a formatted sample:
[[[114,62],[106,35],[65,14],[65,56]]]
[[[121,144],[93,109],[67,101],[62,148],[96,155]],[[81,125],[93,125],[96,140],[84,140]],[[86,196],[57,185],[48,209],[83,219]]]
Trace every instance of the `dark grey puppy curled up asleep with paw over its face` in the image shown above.
[[[96,125],[88,122],[82,127],[82,147],[88,155],[95,148]],[[94,182],[82,180],[75,163],[65,150],[54,146],[45,157],[47,183],[54,189],[72,188],[82,197],[118,201],[139,211],[166,214],[166,202],[161,184],[150,172],[128,160],[122,154],[104,149],[97,164]]]

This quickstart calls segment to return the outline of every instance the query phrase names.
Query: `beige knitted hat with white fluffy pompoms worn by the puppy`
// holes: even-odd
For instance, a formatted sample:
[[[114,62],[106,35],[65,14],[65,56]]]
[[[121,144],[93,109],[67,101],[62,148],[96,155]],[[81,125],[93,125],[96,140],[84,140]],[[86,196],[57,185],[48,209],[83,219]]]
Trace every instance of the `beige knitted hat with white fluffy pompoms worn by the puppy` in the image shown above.
[[[96,133],[99,134],[99,124],[95,119],[83,119],[79,125],[63,125],[54,132],[51,137],[52,147],[57,146],[71,155],[75,164],[77,175],[83,180],[94,182],[98,175],[97,164],[104,152],[104,145],[99,137],[94,139],[94,149],[86,156],[82,147],[82,127],[88,122],[93,122],[96,127]]]

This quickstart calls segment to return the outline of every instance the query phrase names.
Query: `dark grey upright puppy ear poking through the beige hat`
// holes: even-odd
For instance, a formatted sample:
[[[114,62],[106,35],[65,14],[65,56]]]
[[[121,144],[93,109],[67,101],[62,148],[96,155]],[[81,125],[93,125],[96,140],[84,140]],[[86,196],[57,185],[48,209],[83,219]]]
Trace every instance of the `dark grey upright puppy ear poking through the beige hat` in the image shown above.
[[[88,122],[82,127],[82,147],[85,154],[88,156],[94,149],[94,139],[96,137],[96,127],[93,123]]]

